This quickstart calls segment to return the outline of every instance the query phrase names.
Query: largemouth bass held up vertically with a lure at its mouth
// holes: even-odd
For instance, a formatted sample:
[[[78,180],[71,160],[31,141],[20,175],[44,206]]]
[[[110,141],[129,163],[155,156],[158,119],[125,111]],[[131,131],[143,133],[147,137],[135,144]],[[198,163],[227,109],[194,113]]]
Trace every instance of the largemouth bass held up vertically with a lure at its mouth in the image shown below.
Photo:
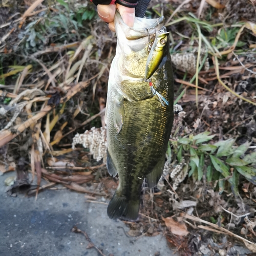
[[[173,71],[163,17],[135,18],[134,27],[114,18],[117,34],[106,103],[107,167],[119,176],[108,206],[111,219],[136,220],[144,178],[160,179],[173,124]]]

